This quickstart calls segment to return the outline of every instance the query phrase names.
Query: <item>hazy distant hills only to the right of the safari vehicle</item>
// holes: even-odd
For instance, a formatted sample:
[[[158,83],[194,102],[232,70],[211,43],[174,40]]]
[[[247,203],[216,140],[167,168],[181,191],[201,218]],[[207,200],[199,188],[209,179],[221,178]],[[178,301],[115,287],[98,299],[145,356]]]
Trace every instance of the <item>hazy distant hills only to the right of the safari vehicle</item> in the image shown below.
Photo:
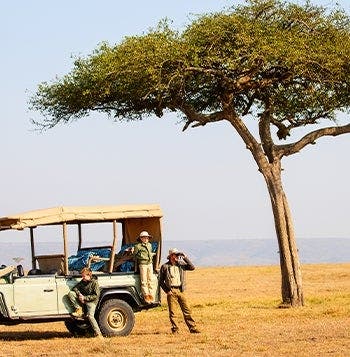
[[[350,262],[350,239],[298,239],[301,263]],[[273,239],[219,239],[163,242],[163,251],[183,250],[197,266],[276,265],[278,244]],[[163,254],[165,259],[167,254]]]

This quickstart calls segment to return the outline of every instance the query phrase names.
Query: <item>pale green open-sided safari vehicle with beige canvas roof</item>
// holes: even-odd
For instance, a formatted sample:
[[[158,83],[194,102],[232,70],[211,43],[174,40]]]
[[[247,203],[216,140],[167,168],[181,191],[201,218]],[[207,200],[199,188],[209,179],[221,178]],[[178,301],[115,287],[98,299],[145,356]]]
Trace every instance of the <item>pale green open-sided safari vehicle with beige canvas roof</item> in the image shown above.
[[[80,269],[90,266],[101,289],[95,317],[102,334],[130,334],[135,322],[134,313],[160,304],[161,219],[158,205],[56,207],[1,217],[1,234],[28,229],[31,268],[25,271],[22,265],[0,267],[0,324],[64,321],[75,336],[91,334],[88,320],[71,317],[73,308],[66,297],[80,281]],[[102,223],[110,231],[110,244],[84,246],[86,227]],[[62,251],[37,255],[40,242],[36,236],[39,230],[48,227],[50,231],[52,228],[58,231]],[[136,243],[143,230],[153,236],[151,243],[156,253],[153,258],[156,296],[152,304],[142,298],[140,276],[128,249]],[[70,254],[70,238],[73,237],[77,246]],[[50,237],[47,240],[50,241]],[[54,242],[51,246],[55,246]]]

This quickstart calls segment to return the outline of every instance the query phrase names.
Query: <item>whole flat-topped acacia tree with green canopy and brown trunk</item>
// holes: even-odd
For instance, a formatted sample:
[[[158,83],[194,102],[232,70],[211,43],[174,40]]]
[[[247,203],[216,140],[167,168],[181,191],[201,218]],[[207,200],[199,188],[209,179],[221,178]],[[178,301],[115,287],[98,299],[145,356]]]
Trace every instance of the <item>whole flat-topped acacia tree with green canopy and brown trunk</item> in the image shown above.
[[[42,128],[90,111],[114,120],[176,111],[183,130],[227,121],[250,150],[271,199],[282,302],[303,305],[300,262],[281,160],[323,136],[350,132],[350,24],[335,8],[251,0],[194,18],[184,31],[162,21],[116,46],[78,58],[63,78],[39,85],[30,105]],[[246,125],[256,123],[254,135]],[[304,128],[303,136],[295,131]],[[306,134],[305,134],[306,132]],[[288,140],[286,140],[288,139]]]

